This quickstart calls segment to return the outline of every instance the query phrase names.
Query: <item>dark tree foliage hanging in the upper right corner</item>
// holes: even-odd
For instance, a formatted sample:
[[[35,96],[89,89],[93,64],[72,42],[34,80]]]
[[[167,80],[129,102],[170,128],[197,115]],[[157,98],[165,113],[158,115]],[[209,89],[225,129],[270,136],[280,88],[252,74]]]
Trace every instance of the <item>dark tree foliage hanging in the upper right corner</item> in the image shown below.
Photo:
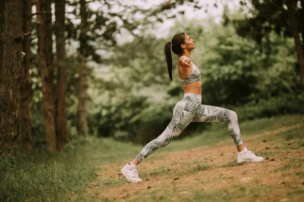
[[[237,33],[244,37],[252,37],[258,43],[264,43],[267,48],[272,47],[267,45],[272,32],[278,35],[283,33],[285,37],[292,37],[292,28],[287,13],[287,2],[295,3],[294,13],[298,20],[299,31],[304,33],[304,1],[302,0],[250,1],[250,4],[240,1],[244,14],[247,16],[246,19],[233,20]]]

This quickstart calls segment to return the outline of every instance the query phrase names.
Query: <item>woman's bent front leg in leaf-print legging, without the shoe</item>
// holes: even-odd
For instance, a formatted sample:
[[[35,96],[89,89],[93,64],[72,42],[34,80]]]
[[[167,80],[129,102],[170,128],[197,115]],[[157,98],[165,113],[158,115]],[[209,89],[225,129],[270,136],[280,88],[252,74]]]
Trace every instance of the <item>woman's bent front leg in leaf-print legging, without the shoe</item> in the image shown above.
[[[196,117],[194,118],[193,122],[227,123],[229,132],[234,139],[238,150],[241,151],[244,149],[238,123],[238,116],[234,111],[215,106],[200,105],[200,108],[196,113]]]

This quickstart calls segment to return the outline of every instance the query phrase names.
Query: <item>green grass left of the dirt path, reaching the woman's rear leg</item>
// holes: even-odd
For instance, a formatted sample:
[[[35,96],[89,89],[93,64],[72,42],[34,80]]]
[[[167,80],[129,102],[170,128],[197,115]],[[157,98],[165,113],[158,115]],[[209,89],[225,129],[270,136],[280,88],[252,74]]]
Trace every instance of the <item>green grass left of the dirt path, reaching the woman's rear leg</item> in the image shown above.
[[[94,166],[134,156],[140,148],[89,137],[71,142],[64,154],[34,150],[31,155],[0,157],[0,201],[58,201],[66,194],[81,193],[94,186]],[[118,153],[121,149],[123,154]]]

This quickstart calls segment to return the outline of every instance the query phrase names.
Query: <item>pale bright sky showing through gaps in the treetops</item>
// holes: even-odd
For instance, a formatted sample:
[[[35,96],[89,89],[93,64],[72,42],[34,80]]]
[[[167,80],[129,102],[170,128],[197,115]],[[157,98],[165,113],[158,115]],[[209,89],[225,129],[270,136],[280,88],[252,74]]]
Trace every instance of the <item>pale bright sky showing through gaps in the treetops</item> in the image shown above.
[[[98,1],[92,1],[92,0],[87,0],[90,1],[91,3],[89,3],[89,7],[92,10],[98,10],[98,9],[102,9],[105,8],[100,2]],[[153,8],[153,7],[157,7],[160,4],[164,3],[164,2],[168,2],[169,0],[124,0],[122,1],[125,5],[136,5],[140,8],[143,9],[149,9],[149,8]],[[170,0],[171,2],[174,0]],[[108,2],[111,2],[111,0],[108,0]],[[114,1],[112,1],[114,2]],[[239,4],[240,0],[199,0],[199,6],[202,6],[202,9],[200,10],[194,10],[193,7],[191,6],[187,6],[187,5],[182,5],[179,6],[175,12],[177,13],[180,10],[184,10],[184,18],[187,20],[192,20],[192,19],[214,19],[215,22],[219,23],[223,14],[223,9],[224,6],[226,5],[229,10],[233,11],[233,10],[238,10],[240,8],[240,4]],[[217,3],[217,7],[213,6],[214,3]],[[208,7],[207,12],[205,12],[206,10],[206,6],[207,4],[211,5]],[[116,11],[115,11],[116,9]],[[113,12],[119,12],[120,10],[124,9],[122,7],[117,7],[113,10]],[[66,7],[66,12],[71,12],[73,10],[72,7]],[[35,7],[32,8],[32,13],[35,13]],[[54,4],[52,4],[52,12],[55,13],[55,6]],[[68,18],[74,18],[73,15],[71,14],[66,14]],[[35,17],[35,16],[34,16]],[[140,17],[140,16],[139,16]],[[180,16],[181,19],[181,16]],[[159,23],[158,26],[156,27],[156,29],[151,30],[151,32],[155,33],[155,35],[157,37],[166,37],[169,34],[170,31],[170,27],[174,26],[174,20],[176,19],[169,19],[169,20],[165,20],[163,23]],[[55,16],[53,15],[53,22],[55,21]],[[73,19],[72,20],[74,24],[79,24],[80,23],[80,19]],[[135,31],[136,33],[136,31]],[[117,41],[119,44],[122,44],[124,42],[128,42],[128,41],[132,41],[133,40],[133,35],[129,34],[126,30],[122,31],[118,36],[117,36]],[[169,39],[168,39],[169,40]],[[72,44],[69,46],[68,48],[68,55],[75,53],[77,47],[79,46],[79,43],[77,41],[72,41]],[[104,53],[102,50],[99,50],[98,52],[100,52],[99,54],[102,55],[107,55],[107,53]]]

